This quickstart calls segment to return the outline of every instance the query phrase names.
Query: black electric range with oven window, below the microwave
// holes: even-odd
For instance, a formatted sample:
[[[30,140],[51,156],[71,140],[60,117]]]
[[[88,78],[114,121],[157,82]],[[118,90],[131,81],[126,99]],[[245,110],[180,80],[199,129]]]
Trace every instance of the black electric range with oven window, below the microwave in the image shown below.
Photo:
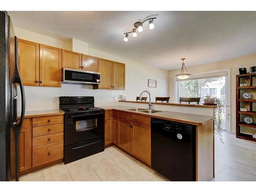
[[[104,110],[94,97],[59,97],[59,109],[65,112],[65,164],[104,151]]]

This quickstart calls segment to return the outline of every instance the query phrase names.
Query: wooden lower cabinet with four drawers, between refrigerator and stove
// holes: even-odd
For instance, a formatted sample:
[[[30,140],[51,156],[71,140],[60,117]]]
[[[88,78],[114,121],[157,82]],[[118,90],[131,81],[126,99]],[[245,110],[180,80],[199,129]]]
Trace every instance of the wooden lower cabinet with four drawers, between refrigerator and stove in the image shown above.
[[[19,137],[20,175],[59,163],[62,158],[63,115],[25,118]]]

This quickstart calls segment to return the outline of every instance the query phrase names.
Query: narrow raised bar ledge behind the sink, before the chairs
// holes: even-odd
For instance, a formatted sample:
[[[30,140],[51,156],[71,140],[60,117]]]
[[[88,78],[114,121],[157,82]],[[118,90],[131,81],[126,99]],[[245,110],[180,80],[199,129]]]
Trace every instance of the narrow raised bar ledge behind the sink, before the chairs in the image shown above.
[[[124,101],[119,100],[119,102],[129,102],[129,103],[148,103],[146,101]],[[160,105],[173,105],[173,106],[192,106],[194,108],[217,108],[216,105],[208,105],[208,104],[188,104],[188,103],[166,103],[166,102],[152,102],[152,104],[160,104]]]

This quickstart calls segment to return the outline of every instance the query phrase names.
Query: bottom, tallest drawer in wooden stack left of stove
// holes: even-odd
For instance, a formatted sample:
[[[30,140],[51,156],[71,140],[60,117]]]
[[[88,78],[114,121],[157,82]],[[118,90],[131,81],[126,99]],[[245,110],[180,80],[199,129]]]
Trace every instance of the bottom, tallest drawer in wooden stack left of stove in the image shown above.
[[[63,158],[63,141],[33,148],[32,166],[36,167]]]

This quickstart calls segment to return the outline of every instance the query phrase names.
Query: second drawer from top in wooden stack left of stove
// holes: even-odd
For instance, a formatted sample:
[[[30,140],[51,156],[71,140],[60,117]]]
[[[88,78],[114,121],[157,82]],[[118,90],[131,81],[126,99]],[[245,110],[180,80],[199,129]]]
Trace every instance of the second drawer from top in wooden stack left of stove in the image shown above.
[[[33,137],[63,132],[63,123],[33,128]]]

